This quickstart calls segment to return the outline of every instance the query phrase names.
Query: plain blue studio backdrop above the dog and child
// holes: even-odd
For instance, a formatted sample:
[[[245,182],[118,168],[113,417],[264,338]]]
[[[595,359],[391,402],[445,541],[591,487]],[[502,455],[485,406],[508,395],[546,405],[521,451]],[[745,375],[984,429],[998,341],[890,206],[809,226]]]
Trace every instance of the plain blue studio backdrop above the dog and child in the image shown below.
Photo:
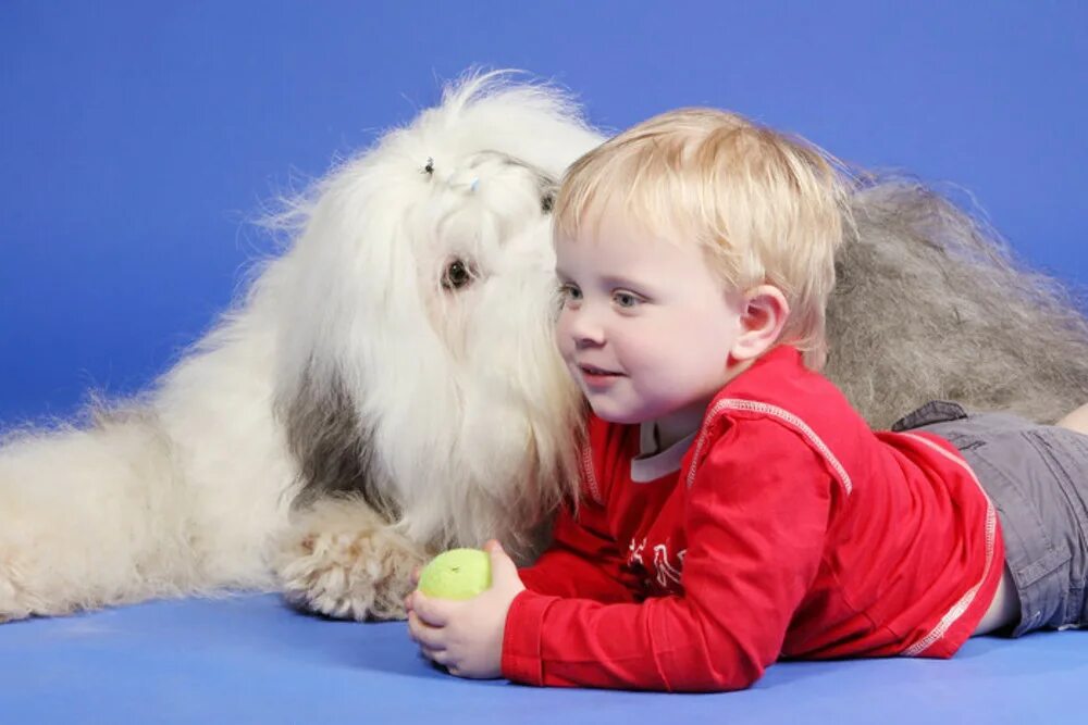
[[[621,128],[739,110],[974,195],[1088,284],[1080,2],[0,3],[0,422],[146,387],[270,240],[249,220],[438,97],[521,67]]]

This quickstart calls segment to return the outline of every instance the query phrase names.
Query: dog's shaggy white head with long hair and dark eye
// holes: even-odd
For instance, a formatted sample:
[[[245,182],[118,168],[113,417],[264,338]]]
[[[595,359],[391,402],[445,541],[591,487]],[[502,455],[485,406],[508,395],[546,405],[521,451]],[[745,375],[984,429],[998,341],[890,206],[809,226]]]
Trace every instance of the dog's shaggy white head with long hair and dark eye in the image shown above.
[[[363,496],[436,547],[516,545],[572,483],[551,203],[601,138],[555,90],[478,76],[305,204],[277,407],[309,498]]]

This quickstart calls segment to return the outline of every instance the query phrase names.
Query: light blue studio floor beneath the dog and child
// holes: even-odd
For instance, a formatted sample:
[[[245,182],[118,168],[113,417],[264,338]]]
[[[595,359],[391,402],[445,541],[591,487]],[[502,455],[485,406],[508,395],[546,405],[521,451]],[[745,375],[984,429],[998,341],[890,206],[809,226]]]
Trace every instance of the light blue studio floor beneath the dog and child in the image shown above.
[[[722,695],[545,690],[431,668],[405,626],[275,596],[0,625],[0,723],[1083,723],[1088,633],[976,639],[951,661],[786,663]]]

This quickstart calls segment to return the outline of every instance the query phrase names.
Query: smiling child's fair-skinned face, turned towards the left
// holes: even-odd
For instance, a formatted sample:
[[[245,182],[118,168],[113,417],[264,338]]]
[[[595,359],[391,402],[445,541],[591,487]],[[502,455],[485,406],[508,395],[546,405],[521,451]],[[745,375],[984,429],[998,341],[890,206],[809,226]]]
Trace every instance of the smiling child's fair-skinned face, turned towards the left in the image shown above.
[[[724,288],[695,243],[656,239],[608,209],[599,225],[557,241],[556,272],[559,351],[593,412],[696,429],[730,377],[743,296]]]

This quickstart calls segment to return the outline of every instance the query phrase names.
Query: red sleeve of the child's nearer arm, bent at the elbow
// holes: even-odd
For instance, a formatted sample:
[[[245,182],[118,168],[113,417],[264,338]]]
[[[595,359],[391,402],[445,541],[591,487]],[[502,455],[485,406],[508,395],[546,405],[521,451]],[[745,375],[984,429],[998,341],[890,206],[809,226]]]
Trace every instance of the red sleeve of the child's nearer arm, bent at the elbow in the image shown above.
[[[523,591],[506,620],[506,677],[731,690],[778,659],[819,567],[833,478],[798,434],[764,418],[732,425],[696,463],[683,514],[683,593],[601,603]]]

